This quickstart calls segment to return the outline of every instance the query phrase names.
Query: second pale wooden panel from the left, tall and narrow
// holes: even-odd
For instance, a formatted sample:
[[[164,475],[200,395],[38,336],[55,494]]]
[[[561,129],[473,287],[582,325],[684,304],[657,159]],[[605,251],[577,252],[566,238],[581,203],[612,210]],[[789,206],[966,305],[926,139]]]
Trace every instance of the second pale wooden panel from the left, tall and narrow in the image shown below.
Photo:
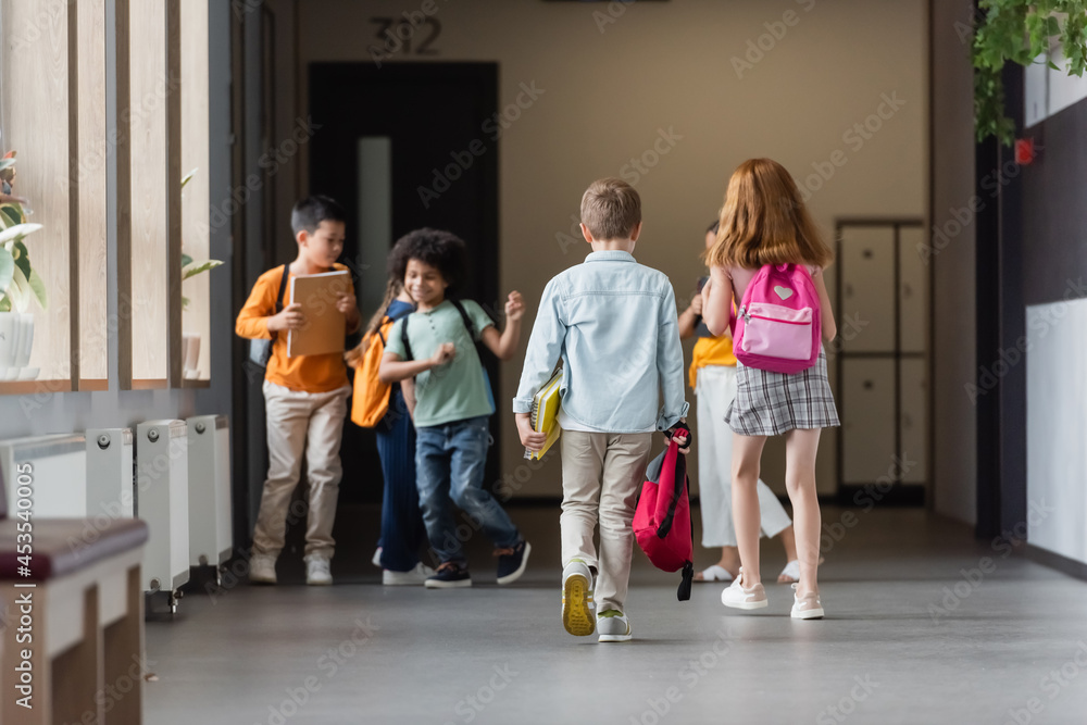
[[[78,197],[78,386],[109,386],[107,267],[105,0],[78,0],[78,145],[74,174]]]

